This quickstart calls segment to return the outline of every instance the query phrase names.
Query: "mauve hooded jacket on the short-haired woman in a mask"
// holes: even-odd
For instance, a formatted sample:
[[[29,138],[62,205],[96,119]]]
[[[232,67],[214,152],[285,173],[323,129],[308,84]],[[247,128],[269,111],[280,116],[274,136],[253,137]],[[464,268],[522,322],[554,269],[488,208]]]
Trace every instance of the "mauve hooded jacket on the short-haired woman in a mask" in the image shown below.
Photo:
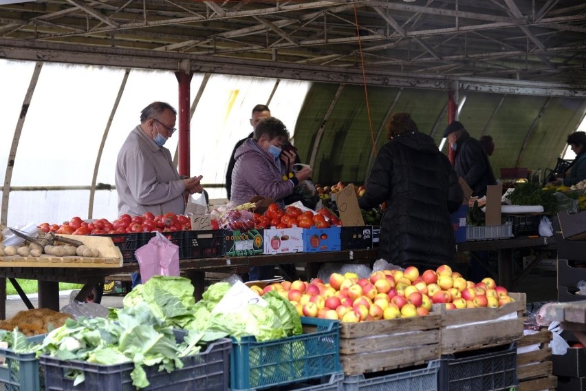
[[[283,180],[285,167],[280,159],[249,138],[238,147],[232,171],[232,198],[236,204],[249,202],[254,195],[275,200],[284,207],[283,198],[293,193],[293,182]]]

